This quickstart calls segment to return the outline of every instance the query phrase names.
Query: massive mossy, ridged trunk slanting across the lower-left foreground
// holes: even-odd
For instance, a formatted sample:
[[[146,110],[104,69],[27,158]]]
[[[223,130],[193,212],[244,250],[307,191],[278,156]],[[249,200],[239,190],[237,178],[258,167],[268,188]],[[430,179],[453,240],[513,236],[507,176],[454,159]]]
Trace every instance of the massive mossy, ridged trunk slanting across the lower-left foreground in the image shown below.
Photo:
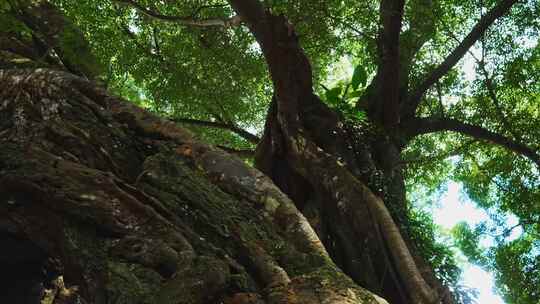
[[[65,72],[0,70],[0,235],[1,303],[386,303],[268,177]]]

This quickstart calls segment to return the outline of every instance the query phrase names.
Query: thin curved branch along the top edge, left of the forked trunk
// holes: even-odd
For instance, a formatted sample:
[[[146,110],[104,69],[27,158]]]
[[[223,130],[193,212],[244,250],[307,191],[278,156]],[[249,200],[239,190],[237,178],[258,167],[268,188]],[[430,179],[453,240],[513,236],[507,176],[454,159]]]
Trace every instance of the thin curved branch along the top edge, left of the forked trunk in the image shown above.
[[[137,9],[139,12],[152,17],[154,19],[177,23],[181,25],[187,25],[187,26],[197,26],[197,27],[208,27],[208,26],[219,26],[219,27],[233,27],[237,26],[242,22],[242,19],[240,16],[232,16],[227,19],[204,19],[204,20],[196,20],[193,19],[191,16],[171,16],[171,15],[163,15],[160,14],[154,10],[148,9],[144,7],[143,5],[132,1],[132,0],[115,0],[119,3],[127,4],[135,9]]]

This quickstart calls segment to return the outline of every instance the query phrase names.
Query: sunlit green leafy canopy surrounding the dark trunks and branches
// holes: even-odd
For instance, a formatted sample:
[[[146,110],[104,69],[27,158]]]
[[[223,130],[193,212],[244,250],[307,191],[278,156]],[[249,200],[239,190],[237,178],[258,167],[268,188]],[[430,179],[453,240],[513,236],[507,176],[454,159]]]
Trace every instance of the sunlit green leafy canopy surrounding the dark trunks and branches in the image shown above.
[[[20,2],[24,1],[0,2],[0,34],[17,32],[21,41],[44,38],[45,33],[9,17],[12,11],[24,9]],[[245,26],[203,27],[182,22],[229,18],[234,12],[227,2],[51,2],[89,42],[77,44],[70,35],[58,42],[75,48],[76,54],[67,57],[92,63],[87,65],[92,67],[90,71],[83,71],[85,75],[96,75],[117,94],[185,123],[200,137],[224,148],[255,148],[272,96],[259,46]],[[264,3],[275,14],[287,16],[294,26],[324,101],[346,120],[369,125],[362,99],[378,63],[378,1]],[[400,60],[410,69],[406,74],[411,87],[446,58],[496,3],[407,1]],[[526,144],[538,154],[539,37],[540,2],[518,2],[482,35],[458,67],[427,92],[417,112],[422,117],[451,118],[483,127]],[[498,290],[507,303],[538,303],[538,165],[503,145],[453,132],[416,137],[406,147],[403,163],[412,206],[429,204],[450,180],[463,184],[467,195],[492,219],[478,227],[457,226],[452,231],[455,245],[469,261],[496,274]],[[438,228],[429,214],[413,209],[403,211],[402,216],[409,219],[403,230],[429,258],[438,276],[459,291],[455,250],[436,241]],[[512,216],[518,219],[516,225],[508,224]],[[512,234],[515,230],[520,231],[517,236]],[[479,247],[485,243],[483,239],[490,240],[489,247]],[[470,301],[466,290],[459,294],[461,301]]]

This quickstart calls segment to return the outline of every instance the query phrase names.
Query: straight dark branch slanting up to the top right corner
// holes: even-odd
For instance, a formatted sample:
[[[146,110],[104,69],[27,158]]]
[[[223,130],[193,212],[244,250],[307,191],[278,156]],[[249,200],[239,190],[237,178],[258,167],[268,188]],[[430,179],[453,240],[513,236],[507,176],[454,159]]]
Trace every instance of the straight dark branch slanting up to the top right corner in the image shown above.
[[[467,50],[469,50],[469,48],[471,48],[473,44],[482,37],[493,22],[495,22],[497,18],[508,13],[512,5],[518,1],[519,0],[502,0],[486,15],[480,18],[478,23],[472,28],[465,39],[463,39],[463,41],[461,41],[461,43],[452,51],[452,53],[450,53],[446,59],[409,94],[409,98],[404,105],[404,111],[402,113],[409,117],[414,116],[416,108],[420,104],[420,100],[426,91],[439,79],[446,75],[448,71],[450,71],[465,55],[465,53],[467,53]]]

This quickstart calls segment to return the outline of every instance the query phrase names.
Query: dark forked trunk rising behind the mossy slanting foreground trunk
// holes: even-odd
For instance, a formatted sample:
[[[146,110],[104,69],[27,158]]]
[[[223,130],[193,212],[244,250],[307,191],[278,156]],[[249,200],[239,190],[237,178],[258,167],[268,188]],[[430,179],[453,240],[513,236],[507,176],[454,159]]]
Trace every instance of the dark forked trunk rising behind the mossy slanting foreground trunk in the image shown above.
[[[372,123],[361,126],[346,123],[313,93],[309,60],[285,17],[258,1],[230,3],[259,42],[274,85],[258,168],[291,197],[333,260],[358,284],[391,303],[451,303],[448,288],[398,226],[406,208],[399,166],[404,139],[396,112],[400,69],[390,57],[399,54],[384,48],[397,43],[401,15],[383,31],[383,68],[367,101]],[[395,14],[382,15],[385,20]]]

